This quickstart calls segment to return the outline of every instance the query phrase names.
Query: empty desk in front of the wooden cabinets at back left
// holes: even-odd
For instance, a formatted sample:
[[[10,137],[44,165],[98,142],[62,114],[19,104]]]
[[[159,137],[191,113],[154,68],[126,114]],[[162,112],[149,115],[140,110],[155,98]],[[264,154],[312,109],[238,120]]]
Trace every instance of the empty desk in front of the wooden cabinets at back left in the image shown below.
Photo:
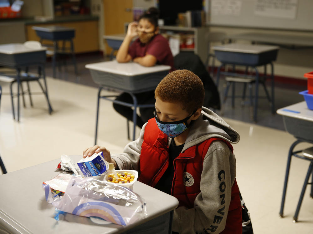
[[[76,64],[74,44],[73,44],[73,38],[75,37],[75,28],[62,27],[62,26],[44,26],[44,27],[34,26],[32,28],[36,31],[37,36],[40,37],[40,42],[42,42],[42,40],[53,41],[53,48],[54,48],[53,56],[52,56],[53,77],[56,76],[56,71],[55,71],[56,58],[60,54],[72,55],[75,75],[77,75],[77,64]],[[61,49],[59,49],[58,47],[58,41],[63,41]],[[65,47],[66,41],[69,41],[70,48]],[[45,45],[45,46],[48,46],[48,45]],[[70,52],[66,52],[67,50],[69,50]]]

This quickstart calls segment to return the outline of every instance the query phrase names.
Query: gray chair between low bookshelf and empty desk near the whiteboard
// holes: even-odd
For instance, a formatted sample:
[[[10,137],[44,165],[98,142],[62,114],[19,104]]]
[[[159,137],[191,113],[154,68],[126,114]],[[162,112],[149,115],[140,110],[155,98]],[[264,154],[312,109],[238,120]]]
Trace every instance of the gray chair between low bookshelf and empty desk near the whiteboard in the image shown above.
[[[212,77],[214,77],[214,68],[215,68],[215,54],[211,53],[211,43],[212,42],[221,42],[224,44],[226,39],[226,33],[224,32],[207,32],[205,35],[205,40],[208,41],[208,56],[205,65],[210,69]],[[212,58],[212,64],[210,66],[209,61]]]

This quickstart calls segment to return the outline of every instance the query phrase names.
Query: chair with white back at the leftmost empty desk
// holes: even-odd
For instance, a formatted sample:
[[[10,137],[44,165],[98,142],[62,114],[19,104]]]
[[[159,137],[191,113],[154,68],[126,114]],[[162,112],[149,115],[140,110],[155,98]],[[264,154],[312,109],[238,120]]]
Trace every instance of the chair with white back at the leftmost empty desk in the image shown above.
[[[41,43],[38,41],[26,41],[24,42],[24,45],[30,48],[41,48]],[[21,77],[20,77],[20,88],[21,88],[21,94],[22,94],[22,100],[23,100],[23,106],[24,108],[26,107],[25,105],[25,98],[24,98],[24,94],[26,93],[26,91],[23,90],[23,82],[26,82],[27,84],[27,92],[29,95],[29,102],[30,105],[33,106],[33,100],[32,100],[32,94],[30,91],[30,86],[29,86],[29,81],[37,81],[38,85],[40,86],[41,90],[43,91],[47,103],[48,103],[48,111],[49,114],[51,114],[52,112],[52,107],[50,105],[50,101],[49,101],[49,97],[48,97],[48,89],[47,89],[47,83],[46,83],[46,78],[45,76],[42,74],[43,71],[41,71],[41,68],[38,67],[38,74],[33,74],[33,73],[29,73],[28,72],[28,67],[25,67],[25,72],[21,73]],[[44,87],[43,85],[40,83],[39,79],[43,77],[44,79]],[[13,90],[12,90],[12,85],[17,82],[16,80],[16,73],[15,71],[13,72],[12,70],[4,70],[4,73],[1,73],[0,70],[0,81],[3,82],[7,82],[10,83],[10,95],[11,95],[11,104],[12,104],[12,114],[13,114],[13,119],[15,119],[15,112],[14,112],[14,102],[13,102]]]

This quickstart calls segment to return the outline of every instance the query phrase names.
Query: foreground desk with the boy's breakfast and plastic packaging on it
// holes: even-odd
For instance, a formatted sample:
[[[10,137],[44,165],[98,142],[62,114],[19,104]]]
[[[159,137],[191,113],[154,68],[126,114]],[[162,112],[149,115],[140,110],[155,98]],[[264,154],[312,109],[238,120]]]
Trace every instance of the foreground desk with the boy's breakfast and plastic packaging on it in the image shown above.
[[[82,156],[72,155],[70,157],[77,162]],[[57,222],[54,219],[55,208],[45,200],[42,183],[63,172],[62,170],[55,170],[59,162],[60,159],[55,159],[0,175],[0,224],[8,229],[10,233],[122,233],[136,227],[147,230],[149,227],[138,225],[144,225],[144,222],[150,220],[150,228],[152,228],[151,223],[154,223],[153,226],[156,227],[164,225],[165,221],[168,225],[171,225],[172,217],[170,213],[178,206],[178,200],[139,181],[134,184],[133,191],[146,202],[148,216],[145,219],[129,226],[121,226],[112,223],[96,224],[90,218],[66,214],[63,219],[61,215],[60,221]],[[162,220],[158,219],[160,217],[162,217]],[[146,225],[148,224],[149,222],[146,223]],[[140,233],[138,230],[129,231],[129,233],[134,234]],[[153,233],[169,233],[169,230],[163,229],[161,232],[159,228],[159,231],[154,229]]]

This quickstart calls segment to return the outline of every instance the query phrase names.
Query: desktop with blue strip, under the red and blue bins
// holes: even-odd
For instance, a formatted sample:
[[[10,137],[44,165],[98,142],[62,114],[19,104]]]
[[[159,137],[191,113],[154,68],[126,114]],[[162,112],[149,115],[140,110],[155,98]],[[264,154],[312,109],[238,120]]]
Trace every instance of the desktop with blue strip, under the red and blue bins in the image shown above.
[[[310,110],[306,102],[299,102],[290,106],[278,109],[277,114],[292,118],[303,119],[313,122],[313,110]]]

